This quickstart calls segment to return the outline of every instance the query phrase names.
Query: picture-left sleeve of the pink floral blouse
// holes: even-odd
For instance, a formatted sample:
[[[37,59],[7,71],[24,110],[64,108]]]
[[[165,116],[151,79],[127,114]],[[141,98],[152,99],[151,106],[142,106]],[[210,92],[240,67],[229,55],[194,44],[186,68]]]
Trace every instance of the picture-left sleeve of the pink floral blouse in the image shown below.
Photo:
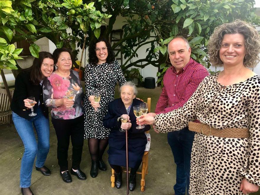
[[[57,108],[55,99],[53,99],[53,87],[49,78],[45,78],[43,81],[43,102],[47,107]]]

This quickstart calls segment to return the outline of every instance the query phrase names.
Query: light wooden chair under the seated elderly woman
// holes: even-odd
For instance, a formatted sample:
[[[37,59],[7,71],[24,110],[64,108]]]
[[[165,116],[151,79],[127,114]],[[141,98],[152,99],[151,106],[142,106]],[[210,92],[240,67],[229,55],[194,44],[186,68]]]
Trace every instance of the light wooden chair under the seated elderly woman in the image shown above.
[[[148,104],[148,112],[150,112],[151,109],[151,98],[147,98],[147,104]],[[146,133],[149,133],[149,130],[146,131]],[[145,186],[145,175],[148,174],[148,155],[149,155],[149,151],[144,152],[144,155],[142,157],[142,171],[137,171],[137,174],[141,174],[142,178],[141,178],[141,191],[144,191],[144,186]],[[126,170],[123,170],[124,172],[126,172]],[[130,173],[130,171],[129,171]],[[127,184],[128,185],[128,184]],[[115,187],[115,170],[112,169],[112,174],[111,174],[111,187],[114,188]]]

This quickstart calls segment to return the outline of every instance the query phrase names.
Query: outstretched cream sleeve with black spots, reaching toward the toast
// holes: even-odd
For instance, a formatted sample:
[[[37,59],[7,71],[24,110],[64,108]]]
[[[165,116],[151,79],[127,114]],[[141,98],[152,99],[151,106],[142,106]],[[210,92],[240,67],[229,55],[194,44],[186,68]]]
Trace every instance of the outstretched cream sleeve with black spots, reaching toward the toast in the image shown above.
[[[204,79],[198,86],[197,90],[191,98],[183,105],[183,107],[173,110],[165,114],[155,116],[155,129],[162,132],[178,131],[188,126],[190,121],[196,119],[196,105],[200,99],[201,90],[206,83]]]

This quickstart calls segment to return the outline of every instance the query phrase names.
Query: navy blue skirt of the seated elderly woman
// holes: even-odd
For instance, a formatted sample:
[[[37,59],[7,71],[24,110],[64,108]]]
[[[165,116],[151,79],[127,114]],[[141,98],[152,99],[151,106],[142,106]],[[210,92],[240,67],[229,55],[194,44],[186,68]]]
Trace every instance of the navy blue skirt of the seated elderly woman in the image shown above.
[[[139,147],[132,147],[128,145],[128,167],[135,168],[142,163],[145,145]],[[108,163],[111,165],[119,165],[126,167],[126,145],[120,150],[109,146],[108,149]]]

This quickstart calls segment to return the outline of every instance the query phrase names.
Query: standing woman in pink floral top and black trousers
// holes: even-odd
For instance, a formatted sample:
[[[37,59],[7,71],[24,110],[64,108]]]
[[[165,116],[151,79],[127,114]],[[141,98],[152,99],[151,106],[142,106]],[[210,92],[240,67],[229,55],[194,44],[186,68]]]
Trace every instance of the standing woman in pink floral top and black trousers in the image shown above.
[[[70,183],[68,169],[69,139],[72,143],[71,174],[85,180],[86,175],[79,169],[83,148],[83,90],[77,71],[71,70],[72,53],[67,48],[53,52],[54,64],[58,67],[43,85],[44,104],[51,107],[51,121],[56,131],[57,157],[63,181]]]

